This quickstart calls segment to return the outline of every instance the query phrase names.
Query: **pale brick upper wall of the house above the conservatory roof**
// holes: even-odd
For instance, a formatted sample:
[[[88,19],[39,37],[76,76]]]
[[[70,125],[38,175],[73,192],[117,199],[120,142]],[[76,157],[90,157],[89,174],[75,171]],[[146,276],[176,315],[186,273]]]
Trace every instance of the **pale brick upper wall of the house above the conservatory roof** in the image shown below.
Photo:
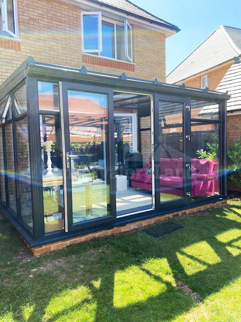
[[[0,38],[0,84],[31,55],[72,67],[165,81],[165,35],[133,25],[134,64],[82,54],[80,7],[58,0],[18,0],[20,41]],[[148,35],[151,35],[148,37]]]

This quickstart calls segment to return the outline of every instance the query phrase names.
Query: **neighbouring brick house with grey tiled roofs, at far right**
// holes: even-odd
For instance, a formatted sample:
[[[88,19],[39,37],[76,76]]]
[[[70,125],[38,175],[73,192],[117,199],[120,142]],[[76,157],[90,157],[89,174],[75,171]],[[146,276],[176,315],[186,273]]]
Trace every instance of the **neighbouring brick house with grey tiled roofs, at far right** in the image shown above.
[[[219,26],[168,76],[167,82],[228,91],[227,146],[241,136],[241,29]]]

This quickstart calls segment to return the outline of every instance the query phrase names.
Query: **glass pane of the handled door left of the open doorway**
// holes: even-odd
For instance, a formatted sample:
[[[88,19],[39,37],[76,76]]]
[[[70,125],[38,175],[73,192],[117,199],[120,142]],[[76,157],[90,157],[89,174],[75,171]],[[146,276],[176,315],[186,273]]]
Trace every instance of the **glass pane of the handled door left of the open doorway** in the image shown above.
[[[73,223],[108,215],[107,95],[68,91]]]

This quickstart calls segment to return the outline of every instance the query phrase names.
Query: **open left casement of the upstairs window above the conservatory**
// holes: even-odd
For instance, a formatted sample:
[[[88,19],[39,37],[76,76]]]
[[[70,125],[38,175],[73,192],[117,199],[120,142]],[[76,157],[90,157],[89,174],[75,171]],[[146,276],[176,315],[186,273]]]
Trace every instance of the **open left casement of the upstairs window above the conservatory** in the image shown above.
[[[102,52],[101,12],[81,13],[82,52]]]

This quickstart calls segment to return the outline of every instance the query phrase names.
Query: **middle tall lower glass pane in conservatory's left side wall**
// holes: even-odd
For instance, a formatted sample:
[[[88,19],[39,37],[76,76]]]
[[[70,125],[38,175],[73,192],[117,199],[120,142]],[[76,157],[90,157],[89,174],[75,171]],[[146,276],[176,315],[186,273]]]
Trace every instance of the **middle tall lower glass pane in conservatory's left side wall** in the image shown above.
[[[9,207],[16,213],[17,207],[16,207],[14,141],[13,141],[13,126],[12,126],[12,124],[8,124],[5,126],[5,137],[6,137]]]

